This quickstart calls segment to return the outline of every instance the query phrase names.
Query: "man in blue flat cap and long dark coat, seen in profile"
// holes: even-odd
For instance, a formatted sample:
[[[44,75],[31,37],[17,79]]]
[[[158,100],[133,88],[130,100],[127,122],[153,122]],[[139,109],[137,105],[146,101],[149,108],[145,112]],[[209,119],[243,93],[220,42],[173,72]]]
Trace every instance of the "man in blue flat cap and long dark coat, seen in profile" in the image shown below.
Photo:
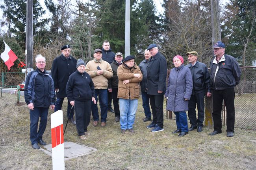
[[[147,68],[147,94],[153,115],[153,121],[147,128],[153,128],[151,132],[160,132],[163,131],[163,95],[166,88],[167,62],[156,44],[150,44],[147,49],[151,55]]]

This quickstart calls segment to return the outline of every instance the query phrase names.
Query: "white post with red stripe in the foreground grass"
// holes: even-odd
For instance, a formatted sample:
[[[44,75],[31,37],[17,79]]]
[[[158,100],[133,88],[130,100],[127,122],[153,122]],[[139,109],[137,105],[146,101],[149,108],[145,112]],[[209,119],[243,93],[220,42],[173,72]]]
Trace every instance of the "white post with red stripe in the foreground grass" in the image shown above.
[[[58,110],[51,114],[52,128],[52,169],[65,170],[64,138],[63,138],[63,113]]]

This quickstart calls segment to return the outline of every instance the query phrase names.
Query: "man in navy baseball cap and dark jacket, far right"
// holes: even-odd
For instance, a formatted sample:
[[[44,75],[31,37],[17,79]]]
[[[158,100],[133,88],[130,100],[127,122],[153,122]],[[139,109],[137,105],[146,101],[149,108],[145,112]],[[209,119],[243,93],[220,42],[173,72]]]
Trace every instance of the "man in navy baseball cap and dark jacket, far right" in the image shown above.
[[[225,45],[218,41],[213,46],[215,58],[211,60],[210,84],[213,99],[213,122],[214,130],[210,135],[221,133],[222,121],[221,110],[222,103],[226,106],[226,125],[227,137],[234,136],[235,126],[235,90],[234,87],[239,83],[241,70],[236,59],[225,54]]]

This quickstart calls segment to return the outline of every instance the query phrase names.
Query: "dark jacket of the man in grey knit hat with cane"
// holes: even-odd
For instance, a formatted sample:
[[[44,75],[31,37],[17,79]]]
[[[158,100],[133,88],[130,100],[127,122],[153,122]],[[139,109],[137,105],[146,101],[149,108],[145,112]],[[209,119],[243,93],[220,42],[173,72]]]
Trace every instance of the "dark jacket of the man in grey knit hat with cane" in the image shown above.
[[[88,101],[95,97],[93,80],[88,73],[72,73],[67,82],[66,93],[70,101]]]

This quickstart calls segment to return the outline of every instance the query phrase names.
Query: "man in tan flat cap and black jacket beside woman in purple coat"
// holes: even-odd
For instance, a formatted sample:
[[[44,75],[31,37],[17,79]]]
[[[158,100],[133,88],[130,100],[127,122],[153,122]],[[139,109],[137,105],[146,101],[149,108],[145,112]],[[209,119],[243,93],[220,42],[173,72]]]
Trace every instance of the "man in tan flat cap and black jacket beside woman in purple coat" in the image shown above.
[[[188,117],[191,127],[188,131],[192,131],[197,128],[197,132],[202,132],[204,122],[204,96],[211,96],[210,89],[210,74],[206,65],[197,61],[197,51],[187,52],[187,59],[189,64],[186,65],[191,71],[193,79],[193,90],[189,100]],[[196,116],[196,106],[197,115]]]

